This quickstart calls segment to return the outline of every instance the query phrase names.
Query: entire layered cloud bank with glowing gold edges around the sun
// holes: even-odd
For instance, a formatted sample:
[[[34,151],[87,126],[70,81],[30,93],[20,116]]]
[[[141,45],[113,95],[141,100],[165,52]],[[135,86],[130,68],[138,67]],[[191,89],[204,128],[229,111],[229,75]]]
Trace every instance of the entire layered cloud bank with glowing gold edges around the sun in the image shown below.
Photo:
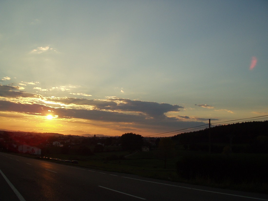
[[[172,131],[205,124],[196,120],[181,121],[180,118],[166,115],[168,112],[179,112],[180,109],[184,108],[179,105],[124,98],[98,100],[55,98],[54,96],[42,97],[41,95],[20,91],[20,88],[20,86],[0,85],[0,96],[8,98],[0,100],[0,111],[12,112],[16,115],[20,113],[46,116],[50,110],[50,113],[57,116],[58,120],[64,121],[65,119],[70,122],[77,121],[77,123],[105,126],[118,131],[131,130],[132,132],[141,132],[141,130],[163,132],[167,129]],[[35,87],[35,89],[42,90],[40,87]],[[12,101],[10,98],[13,98]],[[20,98],[28,98],[28,101]],[[40,102],[39,104],[38,100],[42,101],[42,103]],[[24,118],[25,116],[22,117]],[[184,116],[184,118],[193,119],[187,116]]]

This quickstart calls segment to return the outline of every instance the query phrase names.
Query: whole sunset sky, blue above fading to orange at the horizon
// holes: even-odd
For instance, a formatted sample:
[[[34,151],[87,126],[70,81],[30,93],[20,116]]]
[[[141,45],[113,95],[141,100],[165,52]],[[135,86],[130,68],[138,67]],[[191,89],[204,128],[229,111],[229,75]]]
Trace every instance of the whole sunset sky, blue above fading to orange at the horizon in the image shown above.
[[[268,115],[267,11],[247,0],[1,1],[0,129],[157,136]]]

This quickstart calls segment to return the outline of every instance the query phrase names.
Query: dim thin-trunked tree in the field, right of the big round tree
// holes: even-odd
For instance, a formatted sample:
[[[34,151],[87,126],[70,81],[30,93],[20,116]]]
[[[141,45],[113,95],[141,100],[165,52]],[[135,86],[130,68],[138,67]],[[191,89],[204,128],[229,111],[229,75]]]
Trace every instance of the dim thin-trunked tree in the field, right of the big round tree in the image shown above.
[[[164,168],[168,158],[172,158],[174,154],[175,143],[169,137],[161,138],[158,145],[159,159],[164,161]]]

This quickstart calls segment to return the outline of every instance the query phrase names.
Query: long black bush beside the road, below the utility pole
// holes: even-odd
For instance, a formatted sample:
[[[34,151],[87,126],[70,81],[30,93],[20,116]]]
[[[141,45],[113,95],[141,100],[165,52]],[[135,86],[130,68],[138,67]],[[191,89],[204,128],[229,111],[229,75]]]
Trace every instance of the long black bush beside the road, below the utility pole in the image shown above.
[[[231,156],[227,155],[192,155],[177,162],[180,177],[191,180],[210,179],[216,183],[268,183],[266,168],[267,155]]]

